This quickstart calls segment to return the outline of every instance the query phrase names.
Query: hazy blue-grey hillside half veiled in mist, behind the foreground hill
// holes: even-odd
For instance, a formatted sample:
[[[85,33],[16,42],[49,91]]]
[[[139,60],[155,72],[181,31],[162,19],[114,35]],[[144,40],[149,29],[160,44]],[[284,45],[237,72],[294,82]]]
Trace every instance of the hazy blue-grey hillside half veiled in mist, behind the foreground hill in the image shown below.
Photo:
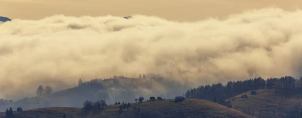
[[[6,108],[22,107],[24,109],[37,107],[82,107],[85,100],[105,99],[109,104],[115,102],[134,102],[139,96],[163,96],[173,98],[183,94],[189,86],[181,85],[163,78],[137,79],[112,78],[93,79],[81,86],[61,90],[47,95],[22,99],[0,106],[0,111]]]

